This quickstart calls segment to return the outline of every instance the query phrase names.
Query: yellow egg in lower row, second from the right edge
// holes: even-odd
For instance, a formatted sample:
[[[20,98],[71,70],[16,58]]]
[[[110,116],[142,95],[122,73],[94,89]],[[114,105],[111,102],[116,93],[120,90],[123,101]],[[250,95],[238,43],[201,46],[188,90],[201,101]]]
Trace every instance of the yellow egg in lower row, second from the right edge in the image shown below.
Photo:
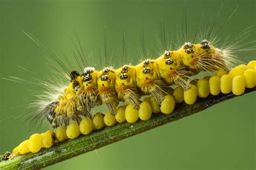
[[[245,78],[242,76],[235,76],[232,80],[232,92],[239,96],[245,92]]]

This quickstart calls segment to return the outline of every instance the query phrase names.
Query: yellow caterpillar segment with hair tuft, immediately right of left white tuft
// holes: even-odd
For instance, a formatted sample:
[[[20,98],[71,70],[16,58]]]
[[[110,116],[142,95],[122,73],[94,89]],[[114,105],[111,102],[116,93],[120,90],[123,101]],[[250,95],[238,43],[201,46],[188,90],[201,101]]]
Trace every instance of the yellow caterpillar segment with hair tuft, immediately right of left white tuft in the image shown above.
[[[115,71],[106,67],[98,73],[98,91],[102,104],[106,105],[112,114],[117,113],[117,92],[115,90]]]

